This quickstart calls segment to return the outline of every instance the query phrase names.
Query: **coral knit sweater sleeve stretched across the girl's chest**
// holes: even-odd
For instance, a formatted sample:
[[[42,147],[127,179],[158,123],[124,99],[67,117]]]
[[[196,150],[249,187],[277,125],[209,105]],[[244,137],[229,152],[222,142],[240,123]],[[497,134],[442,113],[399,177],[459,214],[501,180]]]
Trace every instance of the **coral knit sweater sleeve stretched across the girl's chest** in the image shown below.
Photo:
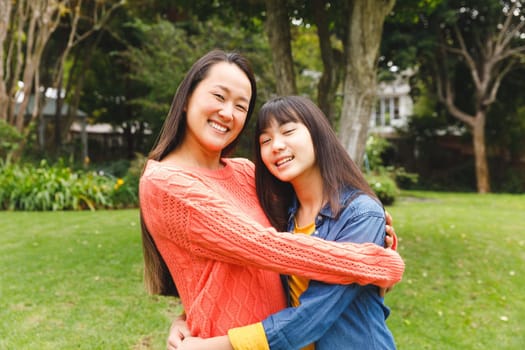
[[[149,177],[141,187],[162,197],[154,199],[161,203],[155,208],[163,216],[161,234],[197,256],[327,283],[388,287],[403,275],[404,262],[391,249],[277,232],[188,174]]]

